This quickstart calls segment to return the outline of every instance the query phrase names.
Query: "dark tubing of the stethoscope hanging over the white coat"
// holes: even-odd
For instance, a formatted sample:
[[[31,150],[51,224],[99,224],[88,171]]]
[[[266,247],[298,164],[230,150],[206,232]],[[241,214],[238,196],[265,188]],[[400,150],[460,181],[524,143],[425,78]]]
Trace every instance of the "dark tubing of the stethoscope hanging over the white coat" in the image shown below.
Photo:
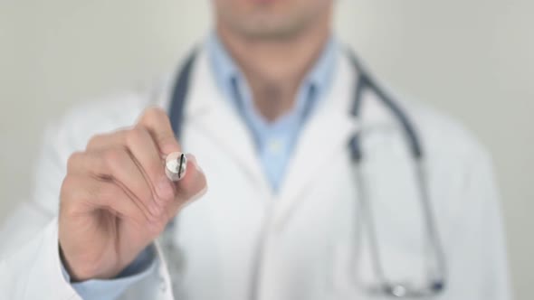
[[[172,98],[170,102],[170,108],[168,110],[169,119],[171,126],[175,132],[176,137],[182,135],[182,123],[184,119],[184,109],[186,108],[186,98],[188,95],[188,89],[190,87],[191,73],[195,64],[195,59],[198,51],[193,51],[189,57],[186,59],[185,63],[182,65],[181,70],[179,71],[176,77],[175,87],[172,92]],[[430,242],[432,250],[434,251],[434,258],[436,261],[435,269],[437,271],[434,274],[430,274],[432,277],[427,284],[422,288],[414,288],[413,286],[405,286],[404,284],[394,283],[386,279],[384,275],[384,269],[381,265],[381,259],[379,254],[379,249],[377,245],[376,230],[374,229],[374,221],[372,220],[372,213],[370,211],[370,203],[367,202],[367,195],[365,194],[363,184],[362,184],[362,175],[357,173],[357,181],[360,186],[360,198],[362,198],[361,208],[362,210],[367,211],[367,221],[369,222],[368,227],[374,234],[370,240],[370,247],[373,252],[373,261],[372,265],[375,269],[375,273],[379,281],[381,281],[373,290],[369,289],[371,292],[379,292],[393,297],[424,297],[429,295],[435,295],[443,291],[445,284],[445,259],[443,253],[443,247],[440,243],[438,237],[437,229],[435,228],[434,214],[432,211],[431,203],[429,200],[428,184],[426,183],[426,176],[424,175],[423,158],[424,152],[421,142],[416,134],[415,127],[410,121],[410,119],[405,114],[404,110],[390,97],[384,89],[381,89],[377,85],[377,81],[374,80],[370,74],[363,68],[359,63],[358,57],[352,51],[348,51],[348,58],[355,68],[358,71],[357,82],[354,87],[354,101],[353,105],[350,108],[350,115],[358,118],[360,116],[360,108],[363,99],[363,93],[366,89],[370,89],[377,94],[377,98],[382,101],[382,103],[389,109],[396,117],[399,122],[399,125],[403,128],[405,132],[406,141],[410,149],[410,154],[414,159],[415,165],[417,166],[417,181],[419,183],[420,189],[420,198],[421,205],[423,207],[424,213],[424,224],[426,226],[428,239]],[[359,164],[361,163],[363,157],[363,152],[361,149],[361,136],[359,133],[354,134],[348,141],[348,149],[350,151],[350,157],[353,163],[357,166],[359,170]],[[174,224],[171,222],[169,227],[173,227]],[[172,230],[168,230],[172,231]],[[167,245],[168,247],[172,247]],[[255,289],[253,286],[253,289]],[[253,295],[256,295],[253,291]]]

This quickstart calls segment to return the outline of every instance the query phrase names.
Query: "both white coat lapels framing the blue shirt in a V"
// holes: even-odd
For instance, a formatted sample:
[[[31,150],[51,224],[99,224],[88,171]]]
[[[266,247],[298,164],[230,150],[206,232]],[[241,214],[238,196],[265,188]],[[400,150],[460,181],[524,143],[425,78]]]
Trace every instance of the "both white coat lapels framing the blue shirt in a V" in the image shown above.
[[[336,63],[338,66],[335,68],[333,85],[302,129],[279,193],[272,194],[255,154],[250,132],[228,101],[224,101],[224,94],[216,85],[205,49],[201,48],[198,52],[191,74],[184,121],[187,126],[202,127],[215,139],[221,151],[232,156],[236,164],[248,173],[259,193],[272,194],[272,221],[275,222],[272,225],[277,228],[307,198],[306,192],[310,190],[307,187],[317,184],[320,176],[328,174],[329,157],[348,155],[348,139],[359,128],[394,126],[388,111],[370,90],[363,96],[361,118],[356,120],[350,116],[349,108],[353,102],[358,71],[354,70],[344,52],[339,51]],[[162,108],[169,108],[175,82],[176,75],[167,81],[167,87],[159,95],[157,103]]]

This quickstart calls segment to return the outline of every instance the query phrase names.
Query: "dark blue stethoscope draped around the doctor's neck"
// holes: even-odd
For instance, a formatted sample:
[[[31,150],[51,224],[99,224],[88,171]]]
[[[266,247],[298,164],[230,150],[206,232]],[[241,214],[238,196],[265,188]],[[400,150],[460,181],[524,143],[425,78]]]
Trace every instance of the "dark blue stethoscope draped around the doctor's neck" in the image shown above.
[[[184,108],[186,104],[186,96],[189,89],[189,81],[191,78],[191,72],[195,63],[196,52],[193,52],[186,62],[183,64],[181,70],[176,78],[175,87],[172,93],[172,98],[169,108],[169,118],[171,125],[175,131],[177,137],[182,134],[182,120],[184,116]],[[358,118],[360,116],[361,102],[364,92],[368,89],[377,95],[377,98],[381,100],[382,104],[389,109],[394,117],[396,117],[400,127],[403,128],[407,145],[410,150],[410,154],[414,161],[416,168],[416,181],[419,190],[419,198],[421,206],[423,208],[423,219],[425,226],[425,235],[428,240],[429,253],[432,256],[434,262],[430,262],[426,267],[426,280],[424,283],[415,284],[414,282],[396,282],[390,280],[385,273],[384,266],[382,264],[383,259],[380,257],[380,245],[377,239],[376,222],[372,213],[372,205],[368,200],[368,195],[365,189],[364,176],[362,173],[361,164],[365,158],[362,152],[361,144],[361,131],[354,134],[348,142],[348,150],[350,158],[355,168],[355,178],[358,183],[358,213],[359,217],[358,228],[362,229],[367,227],[368,234],[367,244],[370,249],[371,267],[377,277],[377,282],[372,285],[359,285],[370,295],[386,295],[390,297],[410,298],[410,297],[428,297],[437,295],[443,291],[446,280],[446,266],[443,253],[443,246],[439,239],[438,231],[436,229],[436,222],[434,220],[434,212],[432,209],[432,203],[430,202],[430,196],[428,191],[428,183],[426,182],[426,176],[424,174],[424,152],[421,142],[415,132],[415,127],[410,122],[402,108],[400,108],[396,102],[389,95],[386,94],[384,89],[377,86],[377,83],[369,75],[366,69],[359,63],[356,54],[352,51],[348,51],[348,57],[358,73],[357,81],[354,90],[353,106],[350,108],[350,115]],[[162,245],[167,253],[176,253],[176,247],[173,242],[175,225],[171,222],[167,226],[162,237]],[[356,230],[356,232],[359,232]],[[359,234],[359,233],[357,233]],[[359,235],[358,235],[359,237]],[[358,237],[356,238],[358,240]],[[259,249],[261,251],[261,249]],[[169,266],[173,267],[173,266]],[[178,268],[179,266],[175,266]],[[253,284],[251,291],[251,298],[255,299],[257,295],[258,287],[258,274],[260,272],[261,264],[258,262],[254,264],[253,270]],[[358,278],[355,278],[358,282]]]

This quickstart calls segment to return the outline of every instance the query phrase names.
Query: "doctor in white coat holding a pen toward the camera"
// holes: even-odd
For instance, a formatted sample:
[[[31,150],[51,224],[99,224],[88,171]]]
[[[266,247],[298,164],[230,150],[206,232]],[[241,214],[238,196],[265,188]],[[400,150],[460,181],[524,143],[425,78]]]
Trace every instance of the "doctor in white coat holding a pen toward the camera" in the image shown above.
[[[469,133],[379,89],[333,0],[213,5],[174,74],[49,130],[1,232],[1,299],[510,299]],[[194,155],[172,183],[176,151]]]

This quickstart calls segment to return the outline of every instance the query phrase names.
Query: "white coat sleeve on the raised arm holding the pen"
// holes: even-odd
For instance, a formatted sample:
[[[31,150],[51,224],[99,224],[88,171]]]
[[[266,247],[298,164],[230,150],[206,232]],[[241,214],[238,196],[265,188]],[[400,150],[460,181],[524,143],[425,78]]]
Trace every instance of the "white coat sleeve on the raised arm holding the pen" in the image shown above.
[[[81,299],[62,274],[57,235],[66,162],[89,138],[81,136],[85,132],[76,127],[76,118],[68,116],[61,126],[47,131],[37,163],[33,200],[21,202],[0,226],[0,299]],[[155,270],[121,299],[172,299],[170,288],[166,292],[160,287],[170,286],[162,260],[157,251]]]

